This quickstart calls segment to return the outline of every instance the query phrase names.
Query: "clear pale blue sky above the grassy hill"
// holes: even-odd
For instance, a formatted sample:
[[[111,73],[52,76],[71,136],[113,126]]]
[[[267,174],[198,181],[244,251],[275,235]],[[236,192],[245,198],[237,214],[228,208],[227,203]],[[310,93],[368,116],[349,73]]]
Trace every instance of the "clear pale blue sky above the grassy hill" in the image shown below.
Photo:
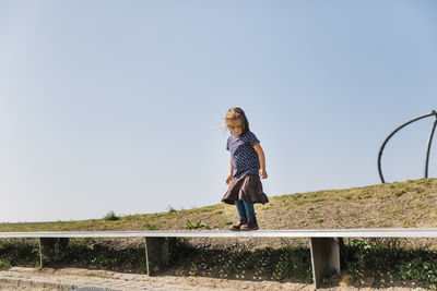
[[[0,0],[0,221],[220,203],[231,107],[271,195],[378,184],[437,109],[436,1]],[[434,118],[387,181],[423,178]],[[437,175],[437,137],[429,175]]]

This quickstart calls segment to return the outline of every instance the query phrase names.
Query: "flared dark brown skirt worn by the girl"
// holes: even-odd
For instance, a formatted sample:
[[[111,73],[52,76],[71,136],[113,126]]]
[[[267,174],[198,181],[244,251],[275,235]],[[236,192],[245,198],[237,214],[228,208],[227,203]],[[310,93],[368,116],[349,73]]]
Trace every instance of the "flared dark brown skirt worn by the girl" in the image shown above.
[[[259,175],[245,174],[231,181],[229,189],[223,196],[222,202],[234,205],[236,201],[262,204],[269,202],[269,198],[262,191]]]

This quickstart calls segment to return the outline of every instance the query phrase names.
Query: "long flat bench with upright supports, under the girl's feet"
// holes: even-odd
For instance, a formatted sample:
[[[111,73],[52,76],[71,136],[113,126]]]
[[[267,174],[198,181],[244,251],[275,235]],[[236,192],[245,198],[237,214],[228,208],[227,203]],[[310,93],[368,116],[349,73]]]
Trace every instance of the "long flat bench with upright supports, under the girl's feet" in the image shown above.
[[[0,239],[37,238],[40,266],[50,258],[55,242],[68,244],[69,238],[144,238],[147,275],[154,266],[168,262],[169,238],[307,238],[310,242],[315,288],[327,272],[340,274],[339,240],[343,238],[437,238],[437,228],[428,229],[298,229],[298,230],[175,230],[175,231],[52,231],[0,232]]]

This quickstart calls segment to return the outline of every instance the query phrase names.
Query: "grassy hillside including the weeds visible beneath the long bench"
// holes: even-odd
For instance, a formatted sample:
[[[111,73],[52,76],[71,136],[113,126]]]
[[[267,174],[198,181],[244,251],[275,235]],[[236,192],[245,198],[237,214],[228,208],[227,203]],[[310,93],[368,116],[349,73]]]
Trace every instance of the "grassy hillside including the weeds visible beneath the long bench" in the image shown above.
[[[327,190],[270,197],[256,205],[261,229],[430,228],[437,227],[437,179]],[[4,231],[227,229],[235,206],[216,204],[167,213],[82,221],[0,223]],[[37,266],[36,240],[0,241],[0,269]],[[347,239],[340,277],[327,275],[327,287],[409,286],[437,289],[435,240]],[[143,240],[71,240],[54,264],[144,272]],[[176,276],[311,281],[305,239],[172,240],[170,264],[160,269]]]

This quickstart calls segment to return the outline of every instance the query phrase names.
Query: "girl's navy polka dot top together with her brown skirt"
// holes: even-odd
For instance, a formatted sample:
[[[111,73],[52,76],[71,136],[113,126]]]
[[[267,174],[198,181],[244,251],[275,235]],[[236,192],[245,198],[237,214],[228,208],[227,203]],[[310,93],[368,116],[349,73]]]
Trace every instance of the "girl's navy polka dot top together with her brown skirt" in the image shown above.
[[[234,166],[233,180],[222,202],[235,204],[236,201],[251,203],[268,203],[269,198],[262,191],[259,177],[260,161],[253,146],[259,143],[257,136],[247,131],[241,135],[231,135],[226,149],[231,153]]]

